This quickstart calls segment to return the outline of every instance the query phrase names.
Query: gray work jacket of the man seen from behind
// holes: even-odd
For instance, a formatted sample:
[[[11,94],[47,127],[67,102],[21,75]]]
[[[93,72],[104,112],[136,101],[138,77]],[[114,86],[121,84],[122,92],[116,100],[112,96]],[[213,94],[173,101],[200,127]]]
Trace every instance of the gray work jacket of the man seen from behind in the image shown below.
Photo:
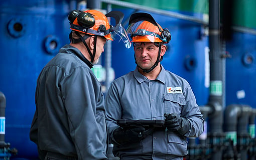
[[[107,159],[104,97],[93,65],[65,45],[41,71],[30,139],[47,151],[78,159]]]

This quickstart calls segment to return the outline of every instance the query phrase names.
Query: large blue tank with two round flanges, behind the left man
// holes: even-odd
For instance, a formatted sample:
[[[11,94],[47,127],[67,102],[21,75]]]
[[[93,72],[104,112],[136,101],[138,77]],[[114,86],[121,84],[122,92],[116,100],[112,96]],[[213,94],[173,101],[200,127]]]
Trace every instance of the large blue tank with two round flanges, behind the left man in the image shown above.
[[[0,2],[0,91],[6,96],[6,136],[18,155],[35,158],[37,146],[29,140],[36,109],[37,77],[60,47],[69,43],[67,15],[72,3],[58,1]]]

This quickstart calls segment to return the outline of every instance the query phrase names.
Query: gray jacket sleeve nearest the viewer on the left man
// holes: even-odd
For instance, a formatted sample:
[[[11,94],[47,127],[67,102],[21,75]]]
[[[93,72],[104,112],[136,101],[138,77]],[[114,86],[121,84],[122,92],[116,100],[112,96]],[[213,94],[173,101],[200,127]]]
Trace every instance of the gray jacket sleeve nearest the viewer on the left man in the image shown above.
[[[104,97],[96,77],[76,68],[60,87],[78,159],[107,159]]]

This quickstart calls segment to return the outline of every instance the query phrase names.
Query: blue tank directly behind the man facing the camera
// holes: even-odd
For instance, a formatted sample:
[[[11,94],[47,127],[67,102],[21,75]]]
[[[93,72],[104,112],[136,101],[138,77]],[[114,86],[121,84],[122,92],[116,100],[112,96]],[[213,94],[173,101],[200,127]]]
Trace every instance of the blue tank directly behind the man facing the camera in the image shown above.
[[[134,12],[130,9],[120,11],[125,15],[123,22],[127,22]],[[167,44],[167,52],[161,64],[165,69],[185,78],[195,93],[198,105],[205,105],[209,95],[209,59],[207,59],[208,36],[203,34],[202,25],[159,14],[149,14],[163,29],[168,28],[172,36],[171,41]],[[191,16],[202,17],[200,14]],[[128,24],[124,23],[124,27],[127,28],[127,26]],[[205,59],[207,60],[205,61]],[[115,72],[115,78],[133,71],[136,68],[133,47],[125,49],[113,42],[112,68]]]

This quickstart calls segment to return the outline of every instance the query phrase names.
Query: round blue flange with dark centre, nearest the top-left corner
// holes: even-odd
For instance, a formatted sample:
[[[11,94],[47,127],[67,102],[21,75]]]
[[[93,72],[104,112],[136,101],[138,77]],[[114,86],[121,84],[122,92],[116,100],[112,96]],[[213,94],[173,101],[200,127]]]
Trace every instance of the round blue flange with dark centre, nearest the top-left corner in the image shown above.
[[[11,36],[18,38],[26,33],[27,25],[21,18],[14,18],[8,23],[8,32]]]

